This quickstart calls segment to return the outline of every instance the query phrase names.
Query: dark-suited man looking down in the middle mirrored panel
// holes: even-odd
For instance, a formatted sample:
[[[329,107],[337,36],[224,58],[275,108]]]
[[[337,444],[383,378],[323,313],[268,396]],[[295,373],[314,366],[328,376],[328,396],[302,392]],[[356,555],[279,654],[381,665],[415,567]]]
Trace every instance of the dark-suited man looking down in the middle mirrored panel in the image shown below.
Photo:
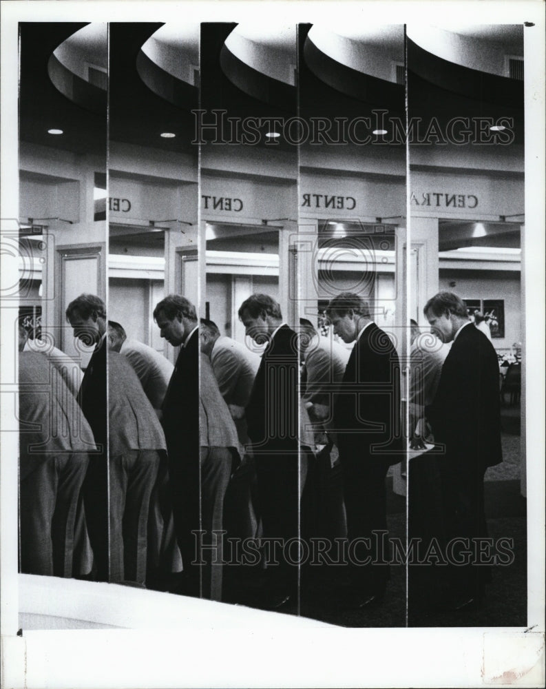
[[[267,342],[246,406],[246,423],[258,475],[264,537],[286,542],[298,534],[299,472],[297,336],[282,320],[277,302],[252,294],[239,308],[246,336]],[[297,568],[283,557],[268,570],[266,608],[278,608],[296,593]]]

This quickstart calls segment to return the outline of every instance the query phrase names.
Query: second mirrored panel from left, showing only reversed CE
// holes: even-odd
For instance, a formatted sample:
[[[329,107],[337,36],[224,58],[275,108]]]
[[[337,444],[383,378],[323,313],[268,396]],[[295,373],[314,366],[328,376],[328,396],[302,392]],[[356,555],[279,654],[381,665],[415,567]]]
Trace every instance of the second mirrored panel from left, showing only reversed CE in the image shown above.
[[[204,595],[200,529],[198,25],[110,24],[112,582]]]

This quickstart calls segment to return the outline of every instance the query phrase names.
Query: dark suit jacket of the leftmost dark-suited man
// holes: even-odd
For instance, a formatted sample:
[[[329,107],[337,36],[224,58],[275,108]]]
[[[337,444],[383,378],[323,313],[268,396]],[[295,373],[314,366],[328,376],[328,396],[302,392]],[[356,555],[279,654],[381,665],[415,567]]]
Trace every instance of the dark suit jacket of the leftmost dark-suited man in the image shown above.
[[[103,453],[106,453],[108,442],[106,349],[103,337],[87,364],[78,393],[78,403],[91,426],[97,449]]]

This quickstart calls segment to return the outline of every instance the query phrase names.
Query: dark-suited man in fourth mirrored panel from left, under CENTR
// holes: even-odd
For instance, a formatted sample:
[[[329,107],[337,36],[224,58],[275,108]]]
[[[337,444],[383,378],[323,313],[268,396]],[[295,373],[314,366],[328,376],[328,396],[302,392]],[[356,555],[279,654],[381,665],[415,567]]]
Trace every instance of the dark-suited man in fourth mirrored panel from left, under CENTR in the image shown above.
[[[389,464],[401,459],[400,366],[387,333],[372,322],[366,300],[339,294],[326,313],[335,334],[344,342],[356,340],[335,398],[334,427],[349,544],[369,539],[369,547],[349,553],[351,604],[363,608],[381,601],[389,577],[385,478]]]

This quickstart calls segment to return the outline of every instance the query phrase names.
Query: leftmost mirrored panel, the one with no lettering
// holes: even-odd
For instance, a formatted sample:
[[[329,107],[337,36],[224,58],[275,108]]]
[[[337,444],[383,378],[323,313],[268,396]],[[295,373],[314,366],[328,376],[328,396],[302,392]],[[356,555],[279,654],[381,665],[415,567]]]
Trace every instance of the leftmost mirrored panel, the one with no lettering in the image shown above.
[[[19,28],[19,570],[107,581],[107,25]]]

